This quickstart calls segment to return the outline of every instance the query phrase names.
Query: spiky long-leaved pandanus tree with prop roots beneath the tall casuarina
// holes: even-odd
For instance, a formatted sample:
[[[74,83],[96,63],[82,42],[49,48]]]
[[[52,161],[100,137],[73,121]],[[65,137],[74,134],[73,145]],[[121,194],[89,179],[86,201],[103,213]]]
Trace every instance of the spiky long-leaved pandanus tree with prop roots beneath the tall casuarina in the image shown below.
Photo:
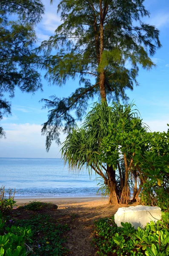
[[[109,189],[109,204],[130,201],[129,173],[136,172],[134,152],[146,148],[145,141],[140,140],[146,131],[133,107],[96,103],[82,127],[73,128],[63,143],[62,156],[71,169],[80,172],[87,167],[103,178]]]

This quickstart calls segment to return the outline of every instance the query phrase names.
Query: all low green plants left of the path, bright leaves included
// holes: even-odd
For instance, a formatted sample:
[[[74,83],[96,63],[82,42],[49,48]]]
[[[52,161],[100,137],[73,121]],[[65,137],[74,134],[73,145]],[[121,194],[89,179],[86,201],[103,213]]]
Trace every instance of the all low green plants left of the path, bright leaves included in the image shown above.
[[[51,216],[43,214],[14,221],[9,217],[1,217],[0,256],[62,256],[68,252],[63,246],[66,242],[65,233],[69,230],[67,224],[60,224]]]

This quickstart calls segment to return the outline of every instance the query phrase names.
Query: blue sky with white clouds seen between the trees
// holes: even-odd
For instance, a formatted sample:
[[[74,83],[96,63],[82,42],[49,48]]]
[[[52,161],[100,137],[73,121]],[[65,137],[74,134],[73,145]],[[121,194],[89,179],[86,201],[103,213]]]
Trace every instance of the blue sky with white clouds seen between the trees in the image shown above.
[[[50,0],[43,0],[45,15],[37,25],[36,33],[39,44],[54,34],[61,23],[57,15],[58,0],[50,5]],[[156,64],[150,71],[140,69],[137,81],[139,86],[133,91],[127,90],[129,102],[134,101],[140,111],[143,122],[151,131],[167,131],[169,123],[169,2],[166,0],[146,0],[146,9],[151,13],[145,22],[155,25],[160,30],[162,48],[158,49],[152,60]],[[42,109],[42,98],[56,94],[58,97],[69,96],[78,85],[78,81],[67,81],[63,87],[49,86],[43,79],[43,92],[34,95],[15,91],[11,101],[11,116],[4,116],[1,125],[6,131],[6,139],[0,140],[0,157],[46,157],[59,158],[60,146],[52,143],[46,152],[45,137],[41,135],[42,124],[47,120],[47,110]],[[63,142],[65,134],[60,134]]]

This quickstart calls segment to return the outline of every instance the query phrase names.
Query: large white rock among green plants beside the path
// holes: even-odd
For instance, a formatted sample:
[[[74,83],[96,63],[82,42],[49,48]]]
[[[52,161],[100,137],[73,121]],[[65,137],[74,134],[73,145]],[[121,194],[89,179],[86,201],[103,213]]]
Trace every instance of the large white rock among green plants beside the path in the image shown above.
[[[129,222],[135,229],[137,229],[137,227],[143,228],[147,223],[150,223],[150,221],[156,222],[160,219],[160,207],[143,205],[121,207],[115,213],[115,223],[117,227],[122,227],[121,222]]]

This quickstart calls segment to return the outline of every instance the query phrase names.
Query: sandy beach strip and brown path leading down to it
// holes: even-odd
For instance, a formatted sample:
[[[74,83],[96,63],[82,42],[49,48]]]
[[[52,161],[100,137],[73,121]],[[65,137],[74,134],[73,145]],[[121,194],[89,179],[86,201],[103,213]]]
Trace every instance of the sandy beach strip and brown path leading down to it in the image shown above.
[[[94,222],[99,218],[111,218],[119,207],[127,205],[110,205],[104,198],[19,198],[15,199],[17,206],[29,201],[52,202],[58,209],[48,212],[54,218],[65,220],[69,224],[68,241],[65,246],[72,252],[72,256],[96,256],[96,249],[92,247],[92,230]]]

